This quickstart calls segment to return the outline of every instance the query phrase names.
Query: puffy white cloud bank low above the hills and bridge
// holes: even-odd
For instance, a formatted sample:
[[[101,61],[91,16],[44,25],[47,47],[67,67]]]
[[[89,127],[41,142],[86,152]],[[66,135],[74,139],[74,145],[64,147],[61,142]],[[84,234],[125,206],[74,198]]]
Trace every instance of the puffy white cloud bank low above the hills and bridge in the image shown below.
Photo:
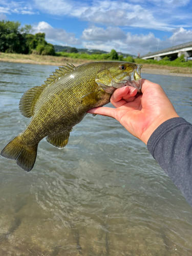
[[[103,32],[103,29],[100,29]],[[91,31],[92,34],[94,31],[99,31],[99,28],[96,29],[96,27],[94,27],[94,29]],[[118,52],[129,53],[133,55],[137,55],[138,52],[141,55],[144,55],[148,52],[156,52],[157,50],[172,47],[173,42],[174,45],[179,45],[187,41],[192,41],[192,31],[183,28],[176,29],[174,32],[175,35],[172,35],[169,38],[165,38],[165,40],[160,40],[159,38],[155,37],[153,33],[144,35],[132,34],[129,32],[126,34],[124,39],[118,38],[118,36],[114,36],[114,39],[112,40],[98,41],[97,33],[95,36],[92,34],[90,37],[87,37],[89,41],[83,41],[84,47],[90,49],[100,49],[108,52],[110,52],[111,49],[115,49]]]

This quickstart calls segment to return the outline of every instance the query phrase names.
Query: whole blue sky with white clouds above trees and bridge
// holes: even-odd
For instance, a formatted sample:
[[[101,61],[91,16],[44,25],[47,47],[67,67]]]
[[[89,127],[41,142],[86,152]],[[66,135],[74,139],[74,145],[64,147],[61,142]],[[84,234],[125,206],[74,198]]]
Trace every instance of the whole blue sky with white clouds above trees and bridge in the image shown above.
[[[192,41],[192,0],[1,0],[3,19],[53,45],[136,56]]]

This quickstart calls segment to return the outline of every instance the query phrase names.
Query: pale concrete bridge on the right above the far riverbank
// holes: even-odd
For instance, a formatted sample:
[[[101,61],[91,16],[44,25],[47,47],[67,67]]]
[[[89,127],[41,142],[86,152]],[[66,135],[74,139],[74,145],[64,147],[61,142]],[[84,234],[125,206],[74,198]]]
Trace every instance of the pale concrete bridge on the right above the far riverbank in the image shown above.
[[[164,58],[165,56],[170,57],[172,60],[176,59],[177,57],[180,57],[182,54],[184,54],[184,58],[187,61],[188,57],[192,56],[192,41],[187,42],[186,44],[169,47],[157,52],[148,53],[146,55],[141,56],[142,59],[156,59],[160,60]]]

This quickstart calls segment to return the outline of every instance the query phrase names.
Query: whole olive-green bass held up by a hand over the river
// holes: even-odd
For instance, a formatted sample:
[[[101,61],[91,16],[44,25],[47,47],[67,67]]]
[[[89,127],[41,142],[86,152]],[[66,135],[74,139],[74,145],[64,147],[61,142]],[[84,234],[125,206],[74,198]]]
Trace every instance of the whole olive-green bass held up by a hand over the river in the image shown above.
[[[109,103],[117,88],[132,86],[141,92],[141,68],[123,61],[89,62],[77,67],[67,63],[59,67],[44,84],[27,90],[20,99],[20,112],[32,118],[26,130],[4,147],[1,156],[16,160],[18,166],[30,172],[43,138],[63,148],[73,126],[88,110]]]

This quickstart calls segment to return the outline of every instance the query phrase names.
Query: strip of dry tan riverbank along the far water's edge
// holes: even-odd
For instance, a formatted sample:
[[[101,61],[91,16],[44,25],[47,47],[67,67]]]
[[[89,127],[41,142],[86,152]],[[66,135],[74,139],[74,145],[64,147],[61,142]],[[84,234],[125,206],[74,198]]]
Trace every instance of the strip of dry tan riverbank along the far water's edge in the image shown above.
[[[0,61],[50,66],[62,66],[65,65],[66,62],[73,63],[75,66],[78,66],[83,63],[90,62],[90,60],[86,59],[74,59],[62,56],[25,55],[15,53],[1,53]],[[143,64],[142,73],[192,77],[191,68],[159,66],[154,64]]]

